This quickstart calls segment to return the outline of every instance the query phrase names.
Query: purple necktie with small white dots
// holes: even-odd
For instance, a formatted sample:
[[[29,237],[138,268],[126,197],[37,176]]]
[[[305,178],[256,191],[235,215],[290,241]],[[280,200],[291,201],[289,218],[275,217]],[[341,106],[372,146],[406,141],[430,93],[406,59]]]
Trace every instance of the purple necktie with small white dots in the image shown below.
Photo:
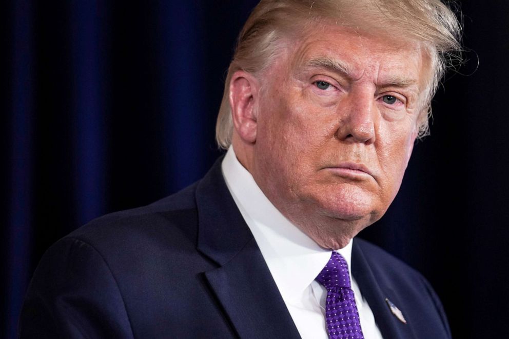
[[[325,317],[329,338],[364,339],[345,258],[332,252],[329,262],[318,274],[316,281],[327,289]]]

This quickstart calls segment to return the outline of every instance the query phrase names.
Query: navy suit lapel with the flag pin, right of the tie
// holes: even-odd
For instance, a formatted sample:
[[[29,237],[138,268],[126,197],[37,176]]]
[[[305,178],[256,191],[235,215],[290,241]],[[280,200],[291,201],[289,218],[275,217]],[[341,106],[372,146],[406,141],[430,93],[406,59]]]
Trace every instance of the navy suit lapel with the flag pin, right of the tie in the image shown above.
[[[384,286],[384,280],[377,278],[369,266],[364,253],[358,242],[354,240],[352,247],[352,275],[355,277],[361,290],[362,296],[366,299],[373,311],[375,321],[384,338],[410,339],[415,338],[412,326],[404,324],[391,312],[386,299],[396,306],[404,305],[399,300],[398,294],[390,286]],[[404,313],[404,310],[402,310]]]

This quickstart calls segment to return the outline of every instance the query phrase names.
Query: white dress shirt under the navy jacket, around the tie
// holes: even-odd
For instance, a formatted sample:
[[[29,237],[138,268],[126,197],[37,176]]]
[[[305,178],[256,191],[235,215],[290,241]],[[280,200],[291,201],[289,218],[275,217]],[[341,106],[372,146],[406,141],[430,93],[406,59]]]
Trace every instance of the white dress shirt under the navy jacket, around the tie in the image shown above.
[[[303,339],[328,338],[325,329],[326,289],[315,281],[331,251],[320,247],[272,205],[240,164],[230,146],[222,163],[226,185],[256,240]],[[352,242],[338,250],[351,267]],[[381,339],[373,312],[351,276],[365,339]]]

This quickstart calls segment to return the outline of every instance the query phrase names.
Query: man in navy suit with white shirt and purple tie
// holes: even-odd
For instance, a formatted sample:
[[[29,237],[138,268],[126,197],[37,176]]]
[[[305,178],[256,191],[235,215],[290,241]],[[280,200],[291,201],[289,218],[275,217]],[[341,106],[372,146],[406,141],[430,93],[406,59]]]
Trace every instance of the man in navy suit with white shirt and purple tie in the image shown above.
[[[436,0],[262,0],[198,183],[52,246],[21,337],[448,338],[424,278],[354,239],[393,201],[454,14]]]

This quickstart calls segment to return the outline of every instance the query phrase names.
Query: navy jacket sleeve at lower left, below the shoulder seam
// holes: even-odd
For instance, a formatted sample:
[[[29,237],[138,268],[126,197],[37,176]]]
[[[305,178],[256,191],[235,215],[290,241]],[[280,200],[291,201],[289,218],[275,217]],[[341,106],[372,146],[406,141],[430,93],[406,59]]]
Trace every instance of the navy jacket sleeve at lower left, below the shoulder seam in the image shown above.
[[[64,238],[43,256],[19,318],[20,338],[132,338],[115,277],[91,245]]]

